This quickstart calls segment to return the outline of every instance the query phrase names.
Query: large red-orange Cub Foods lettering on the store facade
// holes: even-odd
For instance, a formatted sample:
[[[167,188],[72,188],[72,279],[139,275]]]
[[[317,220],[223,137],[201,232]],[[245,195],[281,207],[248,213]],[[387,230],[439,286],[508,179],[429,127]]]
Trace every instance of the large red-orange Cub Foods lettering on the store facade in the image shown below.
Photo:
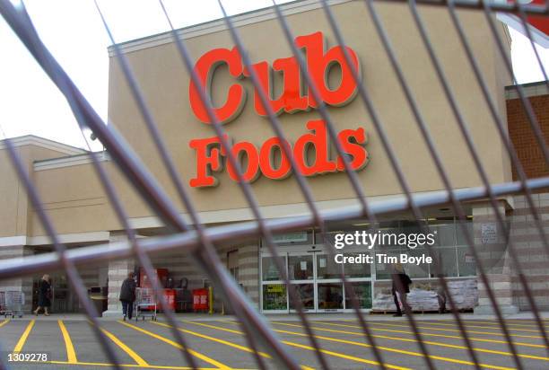
[[[326,48],[322,32],[299,36],[295,44],[301,48],[307,57],[307,68],[314,80],[320,97],[327,105],[341,107],[352,101],[357,92],[357,85],[353,74],[345,63],[342,47]],[[352,58],[353,67],[360,72],[358,57],[352,48],[347,47]],[[217,66],[227,65],[227,71],[234,79],[234,83],[226,93],[225,102],[215,108],[215,114],[222,123],[228,123],[238,117],[246,102],[246,89],[239,81],[249,77],[249,71],[244,66],[238,48],[214,48],[206,52],[196,61],[195,70],[206,91],[210,92],[213,73]],[[331,68],[338,65],[341,77],[338,86],[331,88],[327,84]],[[275,59],[272,65],[262,61],[251,66],[255,69],[261,88],[269,99],[269,103],[276,114],[293,113],[302,110],[316,109],[317,101],[310,91],[301,92],[304,78],[295,57],[281,57]],[[273,97],[273,82],[270,78],[273,71],[283,74],[283,89],[279,96]],[[195,84],[189,86],[190,106],[195,116],[205,124],[210,124],[205,106]],[[254,92],[254,108],[259,116],[266,116],[266,110],[259,94]],[[283,154],[282,145],[292,148],[299,171],[304,176],[343,172],[344,163],[340,157],[330,156],[330,142],[328,140],[327,125],[322,119],[309,120],[305,123],[305,133],[298,137],[293,145],[281,143],[278,137],[270,137],[261,145],[242,140],[234,142],[232,154],[245,164],[242,166],[244,179],[255,181],[260,175],[272,180],[282,180],[288,177],[292,168],[290,161]],[[364,128],[348,128],[337,134],[344,152],[349,154],[353,170],[362,169],[368,163],[368,152],[363,145],[367,137]],[[218,137],[206,137],[190,140],[189,146],[196,150],[196,177],[190,180],[193,188],[216,186],[219,181],[213,172],[222,172],[226,168],[232,181],[238,181],[236,169],[225,160],[227,156],[222,150]],[[314,150],[312,150],[314,149]],[[275,160],[279,158],[279,160]],[[243,161],[245,159],[245,161]]]

